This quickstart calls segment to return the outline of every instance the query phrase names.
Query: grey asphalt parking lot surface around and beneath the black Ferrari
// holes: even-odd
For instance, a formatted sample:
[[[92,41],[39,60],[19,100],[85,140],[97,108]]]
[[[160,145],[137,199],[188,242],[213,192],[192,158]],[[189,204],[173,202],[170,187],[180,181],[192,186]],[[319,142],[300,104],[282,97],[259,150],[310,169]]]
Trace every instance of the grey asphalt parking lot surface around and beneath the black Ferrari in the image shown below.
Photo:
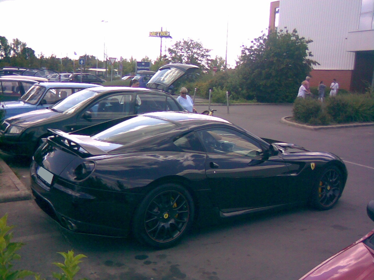
[[[197,106],[199,112],[206,106]],[[292,115],[292,105],[212,106],[219,116],[260,137],[297,143],[310,150],[340,156],[348,169],[343,196],[328,211],[301,206],[194,228],[174,248],[154,250],[130,238],[69,233],[49,218],[33,200],[0,203],[0,215],[16,225],[18,269],[51,276],[62,262],[56,252],[83,253],[79,277],[89,279],[289,280],[298,279],[324,259],[370,231],[366,215],[374,199],[374,127],[306,130],[280,122]],[[11,159],[6,159],[11,161]],[[14,159],[11,167],[28,187],[27,161]]]

